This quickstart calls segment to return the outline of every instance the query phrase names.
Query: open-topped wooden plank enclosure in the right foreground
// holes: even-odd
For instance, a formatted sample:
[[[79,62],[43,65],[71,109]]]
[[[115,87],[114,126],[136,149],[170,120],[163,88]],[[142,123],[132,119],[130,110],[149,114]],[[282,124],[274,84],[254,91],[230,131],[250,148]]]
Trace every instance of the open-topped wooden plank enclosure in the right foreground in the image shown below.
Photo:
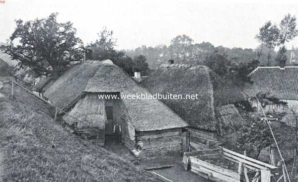
[[[235,163],[238,169],[232,171],[204,161],[204,159],[212,158],[224,158],[229,162]],[[261,179],[261,182],[270,182],[271,176],[278,175],[277,167],[225,148],[185,152],[183,155],[183,164],[185,170],[190,170],[197,175],[215,182],[242,182],[245,181],[245,178],[256,181],[260,176],[264,177],[266,173],[270,173],[269,179]]]

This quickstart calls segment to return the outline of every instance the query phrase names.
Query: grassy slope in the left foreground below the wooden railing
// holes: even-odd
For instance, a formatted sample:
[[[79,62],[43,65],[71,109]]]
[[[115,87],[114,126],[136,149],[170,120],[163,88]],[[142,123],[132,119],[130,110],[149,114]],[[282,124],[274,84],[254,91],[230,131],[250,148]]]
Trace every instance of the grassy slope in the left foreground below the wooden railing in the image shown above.
[[[0,92],[7,96],[10,87],[5,84]],[[130,162],[65,131],[51,114],[47,104],[19,88],[15,98],[0,98],[4,181],[157,181]]]

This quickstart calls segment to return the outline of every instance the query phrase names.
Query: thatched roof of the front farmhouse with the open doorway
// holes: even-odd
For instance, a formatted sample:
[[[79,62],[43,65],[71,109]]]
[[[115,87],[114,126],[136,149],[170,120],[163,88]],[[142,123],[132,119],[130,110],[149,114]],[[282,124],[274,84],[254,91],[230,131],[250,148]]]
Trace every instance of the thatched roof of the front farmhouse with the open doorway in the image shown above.
[[[68,111],[83,95],[107,92],[120,92],[121,95],[149,93],[110,61],[87,61],[68,70],[44,92],[44,95],[51,103]],[[188,126],[159,100],[123,99],[123,103],[131,123],[138,131]]]

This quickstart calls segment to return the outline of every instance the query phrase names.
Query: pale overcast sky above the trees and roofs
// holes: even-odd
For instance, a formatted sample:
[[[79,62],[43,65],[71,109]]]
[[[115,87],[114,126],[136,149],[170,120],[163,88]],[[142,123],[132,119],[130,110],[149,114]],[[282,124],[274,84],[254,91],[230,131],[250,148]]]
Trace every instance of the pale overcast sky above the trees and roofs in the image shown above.
[[[169,45],[179,34],[195,43],[255,48],[258,29],[267,20],[279,23],[285,14],[298,16],[294,0],[280,3],[203,3],[198,0],[5,0],[0,3],[0,42],[14,30],[15,19],[33,20],[59,12],[71,21],[84,44],[94,41],[104,26],[114,31],[117,49]],[[281,3],[282,2],[282,3]],[[298,38],[288,43],[298,47]]]

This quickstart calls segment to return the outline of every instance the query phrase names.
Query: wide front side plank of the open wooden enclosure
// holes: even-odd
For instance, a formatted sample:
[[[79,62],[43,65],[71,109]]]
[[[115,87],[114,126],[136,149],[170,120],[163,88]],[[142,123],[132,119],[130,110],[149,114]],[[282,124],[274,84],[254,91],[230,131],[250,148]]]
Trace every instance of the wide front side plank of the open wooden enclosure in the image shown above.
[[[232,172],[232,171],[227,170],[227,169],[224,169],[222,167],[213,165],[211,163],[202,161],[200,159],[194,158],[192,156],[190,156],[190,165],[191,166],[199,166],[199,167],[202,166],[202,167],[205,167],[205,168],[210,169],[212,171],[216,171],[218,173],[221,173],[221,174],[223,174],[225,176],[232,177],[233,179],[240,180],[240,176],[237,173]]]

